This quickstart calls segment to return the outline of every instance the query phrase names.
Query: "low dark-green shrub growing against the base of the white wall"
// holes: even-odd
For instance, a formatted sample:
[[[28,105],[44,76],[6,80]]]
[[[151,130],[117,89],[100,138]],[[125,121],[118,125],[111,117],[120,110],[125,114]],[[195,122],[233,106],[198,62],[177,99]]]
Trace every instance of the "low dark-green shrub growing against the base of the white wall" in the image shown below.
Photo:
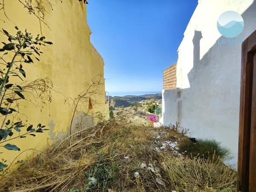
[[[189,157],[199,157],[204,159],[212,158],[213,156],[221,157],[226,160],[230,157],[230,151],[221,146],[221,143],[216,140],[198,139],[197,143],[193,143],[188,138],[183,139],[179,145],[180,151],[187,151]]]

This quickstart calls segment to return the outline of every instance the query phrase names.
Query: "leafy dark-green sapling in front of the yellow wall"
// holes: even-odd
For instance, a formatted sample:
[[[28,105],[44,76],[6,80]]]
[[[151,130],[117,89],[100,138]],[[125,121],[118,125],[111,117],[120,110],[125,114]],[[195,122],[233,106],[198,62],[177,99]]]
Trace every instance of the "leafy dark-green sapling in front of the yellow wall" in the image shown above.
[[[0,147],[20,151],[18,146],[11,144],[11,140],[25,138],[28,135],[35,137],[36,133],[43,133],[48,129],[41,123],[36,128],[33,125],[26,127],[21,121],[11,122],[7,118],[9,114],[19,112],[18,102],[20,99],[25,99],[26,85],[15,83],[18,82],[15,78],[23,81],[23,78],[26,78],[23,65],[34,63],[34,59],[39,61],[38,57],[43,53],[39,47],[52,44],[52,42],[46,41],[45,37],[40,35],[34,39],[31,33],[26,30],[21,32],[17,26],[15,29],[17,30],[16,35],[10,35],[3,29],[3,34],[7,36],[9,42],[2,42],[3,48],[0,49],[0,53],[3,53],[0,54],[0,64],[4,66],[0,67],[0,117],[3,119],[0,127]],[[17,134],[14,135],[14,131]],[[6,168],[6,164],[2,161],[0,162],[0,171],[4,168]]]

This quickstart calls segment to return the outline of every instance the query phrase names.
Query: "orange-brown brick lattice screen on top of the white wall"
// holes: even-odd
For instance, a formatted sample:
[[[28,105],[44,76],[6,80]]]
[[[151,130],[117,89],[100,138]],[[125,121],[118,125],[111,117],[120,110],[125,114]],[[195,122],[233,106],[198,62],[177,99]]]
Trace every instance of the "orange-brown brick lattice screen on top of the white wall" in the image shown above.
[[[176,67],[177,63],[163,70],[163,89],[176,89]]]

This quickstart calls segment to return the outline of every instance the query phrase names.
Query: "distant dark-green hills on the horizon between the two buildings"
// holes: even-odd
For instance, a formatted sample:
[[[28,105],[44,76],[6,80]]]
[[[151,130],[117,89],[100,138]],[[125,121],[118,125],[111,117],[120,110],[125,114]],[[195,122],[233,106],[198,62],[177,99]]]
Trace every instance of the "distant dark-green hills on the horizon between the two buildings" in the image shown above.
[[[135,105],[137,102],[147,99],[162,99],[162,93],[146,94],[140,96],[126,95],[126,96],[109,96],[110,105],[118,107],[124,105],[125,107]]]

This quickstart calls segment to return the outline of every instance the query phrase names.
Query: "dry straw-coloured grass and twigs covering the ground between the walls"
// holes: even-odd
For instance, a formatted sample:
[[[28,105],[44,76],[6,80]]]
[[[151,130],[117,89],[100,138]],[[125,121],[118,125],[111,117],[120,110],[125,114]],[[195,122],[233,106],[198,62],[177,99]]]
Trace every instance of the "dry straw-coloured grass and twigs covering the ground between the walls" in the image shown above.
[[[185,137],[161,129],[175,139]],[[103,122],[35,153],[0,179],[0,191],[236,191],[236,172],[221,160],[212,163],[157,152],[153,136],[150,128],[124,125],[118,118]],[[141,163],[151,164],[155,172]],[[140,177],[135,178],[135,172]],[[91,178],[97,182],[93,184]]]

